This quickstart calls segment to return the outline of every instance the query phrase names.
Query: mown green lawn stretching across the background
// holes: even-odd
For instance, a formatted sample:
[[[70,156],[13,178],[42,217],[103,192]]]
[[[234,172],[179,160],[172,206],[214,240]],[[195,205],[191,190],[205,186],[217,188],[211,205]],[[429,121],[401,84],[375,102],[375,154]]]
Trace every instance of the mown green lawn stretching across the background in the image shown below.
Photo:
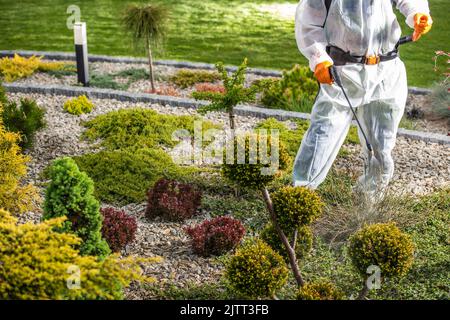
[[[72,51],[66,9],[81,8],[88,23],[89,51],[133,55],[119,23],[128,1],[19,0],[0,3],[0,49]],[[137,1],[139,2],[139,1]],[[247,56],[253,67],[283,69],[306,63],[294,39],[297,1],[164,0],[170,7],[170,33],[160,59],[239,64]],[[448,1],[430,0],[435,27],[420,43],[406,46],[403,59],[410,85],[428,87],[439,79],[433,72],[434,51],[450,51]],[[404,18],[401,18],[404,21]],[[406,31],[405,33],[410,31]]]

